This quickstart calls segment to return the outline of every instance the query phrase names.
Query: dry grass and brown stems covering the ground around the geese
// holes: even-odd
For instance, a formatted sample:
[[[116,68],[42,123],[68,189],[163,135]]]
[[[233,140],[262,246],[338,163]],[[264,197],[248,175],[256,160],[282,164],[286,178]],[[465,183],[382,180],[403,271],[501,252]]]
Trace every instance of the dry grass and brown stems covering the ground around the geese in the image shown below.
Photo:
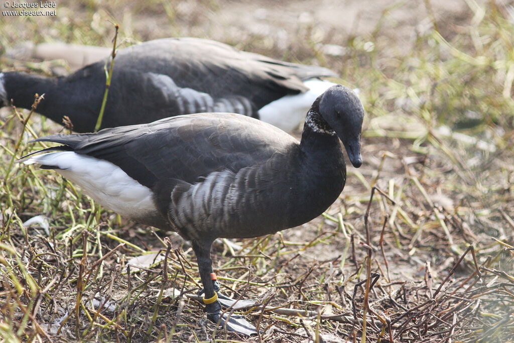
[[[120,39],[206,37],[201,13],[219,4],[188,4],[193,10],[186,19],[173,15],[173,6],[159,13],[130,5],[118,19]],[[62,6],[48,29],[22,23],[34,41],[108,45],[114,29],[105,8]],[[121,5],[109,6],[117,13]],[[335,68],[345,84],[361,89],[364,165],[350,169],[345,191],[323,218],[235,245],[215,243],[223,292],[262,305],[238,311],[259,327],[259,337],[205,321],[187,242],[172,237],[168,244],[166,234],[99,208],[57,174],[13,164],[34,148],[27,140],[61,128],[36,114],[27,121],[28,112],[2,112],[0,337],[303,342],[332,334],[368,342],[514,341],[514,26],[506,7],[489,3],[484,10],[458,21],[435,20],[428,11],[428,24],[402,46],[387,16],[373,34],[344,42],[315,28],[298,30],[291,40],[287,50],[294,55],[287,59]],[[166,29],[147,32],[127,19],[130,13]],[[11,20],[0,28],[3,45],[21,39],[20,25]],[[265,42],[258,34],[211,38],[285,55],[273,45],[258,48]],[[345,53],[324,55],[318,43],[344,45]],[[60,62],[2,63],[3,69],[50,74]],[[46,219],[23,224],[36,215]],[[144,254],[154,255],[130,266]]]

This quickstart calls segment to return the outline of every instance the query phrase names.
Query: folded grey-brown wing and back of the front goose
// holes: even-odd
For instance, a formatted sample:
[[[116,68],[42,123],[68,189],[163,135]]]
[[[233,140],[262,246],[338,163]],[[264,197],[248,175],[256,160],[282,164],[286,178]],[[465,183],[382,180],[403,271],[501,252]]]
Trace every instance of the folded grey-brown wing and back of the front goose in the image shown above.
[[[245,122],[245,125],[239,123]],[[254,125],[259,126],[255,130]],[[259,132],[259,134],[256,134]],[[52,135],[34,141],[64,144],[105,159],[140,184],[164,187],[172,177],[195,183],[209,173],[237,171],[268,159],[297,141],[261,121],[236,114],[195,114],[96,134]]]

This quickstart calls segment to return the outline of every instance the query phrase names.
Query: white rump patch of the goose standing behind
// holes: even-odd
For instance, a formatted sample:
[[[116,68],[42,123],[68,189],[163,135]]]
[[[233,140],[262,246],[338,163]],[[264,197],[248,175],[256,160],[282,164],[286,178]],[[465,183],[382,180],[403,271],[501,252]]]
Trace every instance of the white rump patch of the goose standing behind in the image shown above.
[[[303,83],[309,88],[305,93],[286,95],[270,102],[259,110],[262,121],[270,123],[285,132],[292,132],[305,119],[307,111],[317,97],[337,83],[310,79]]]

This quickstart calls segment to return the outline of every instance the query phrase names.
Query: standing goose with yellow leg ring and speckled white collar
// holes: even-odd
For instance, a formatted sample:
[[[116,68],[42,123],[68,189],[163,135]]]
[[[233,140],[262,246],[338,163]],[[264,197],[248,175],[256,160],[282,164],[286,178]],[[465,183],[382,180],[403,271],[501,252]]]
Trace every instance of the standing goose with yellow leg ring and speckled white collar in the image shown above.
[[[355,93],[337,85],[310,107],[300,142],[253,118],[200,113],[38,138],[62,145],[21,161],[54,169],[103,206],[191,240],[208,318],[225,323],[212,242],[277,232],[325,211],[346,179],[339,139],[352,164],[362,163],[363,116]],[[247,333],[242,318],[232,316],[226,324]]]

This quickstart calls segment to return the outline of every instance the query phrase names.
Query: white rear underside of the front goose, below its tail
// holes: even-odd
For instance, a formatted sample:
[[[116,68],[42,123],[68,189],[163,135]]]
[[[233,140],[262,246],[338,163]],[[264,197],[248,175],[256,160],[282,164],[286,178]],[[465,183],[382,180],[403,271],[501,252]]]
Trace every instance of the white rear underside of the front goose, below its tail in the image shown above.
[[[144,218],[157,212],[152,191],[106,160],[63,151],[32,156],[23,163],[58,166],[61,169],[56,172],[77,184],[100,205],[127,218]]]

